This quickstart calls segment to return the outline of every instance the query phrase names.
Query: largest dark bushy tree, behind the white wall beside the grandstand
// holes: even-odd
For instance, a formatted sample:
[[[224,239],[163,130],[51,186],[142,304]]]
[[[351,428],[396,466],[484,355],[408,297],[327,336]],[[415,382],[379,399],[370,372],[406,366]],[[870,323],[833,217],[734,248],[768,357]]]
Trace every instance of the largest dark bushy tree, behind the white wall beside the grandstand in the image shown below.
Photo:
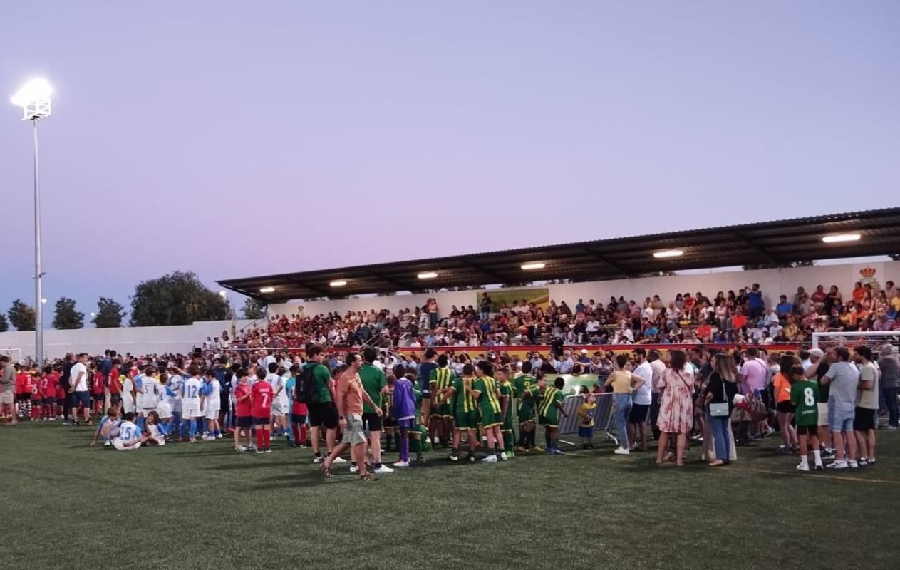
[[[131,326],[185,325],[228,318],[228,303],[193,271],[174,271],[139,283],[131,296]]]

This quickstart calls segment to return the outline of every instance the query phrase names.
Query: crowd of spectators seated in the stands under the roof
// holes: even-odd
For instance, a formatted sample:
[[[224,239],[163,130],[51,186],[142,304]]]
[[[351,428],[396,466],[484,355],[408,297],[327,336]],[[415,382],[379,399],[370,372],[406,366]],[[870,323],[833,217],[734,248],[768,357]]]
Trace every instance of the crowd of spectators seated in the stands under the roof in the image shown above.
[[[579,299],[573,305],[551,300],[545,306],[522,300],[453,305],[438,311],[437,300],[391,312],[387,309],[275,315],[263,326],[240,331],[237,339],[214,342],[231,348],[374,346],[515,346],[535,344],[670,344],[804,342],[813,332],[900,329],[900,290],[858,282],[850,294],[836,285],[802,286],[766,303],[759,285],[719,291],[660,295],[643,302],[624,295],[608,303]]]

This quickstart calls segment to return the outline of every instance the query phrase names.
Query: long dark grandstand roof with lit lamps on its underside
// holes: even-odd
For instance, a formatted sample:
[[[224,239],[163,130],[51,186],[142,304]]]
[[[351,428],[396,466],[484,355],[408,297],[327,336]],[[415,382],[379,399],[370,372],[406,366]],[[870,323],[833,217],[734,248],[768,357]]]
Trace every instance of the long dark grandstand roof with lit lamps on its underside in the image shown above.
[[[658,221],[665,219],[661,214]],[[860,234],[825,243],[825,236]],[[678,257],[654,253],[680,250]],[[550,279],[592,281],[661,271],[711,267],[779,266],[797,261],[900,254],[900,207],[834,213],[774,222],[670,231],[448,258],[413,259],[219,281],[266,303],[350,294],[423,291],[464,285],[516,284]],[[523,264],[544,264],[525,270]],[[419,274],[436,273],[429,279]],[[346,281],[347,285],[332,286]],[[269,290],[271,288],[271,290]],[[261,291],[262,290],[262,291]]]

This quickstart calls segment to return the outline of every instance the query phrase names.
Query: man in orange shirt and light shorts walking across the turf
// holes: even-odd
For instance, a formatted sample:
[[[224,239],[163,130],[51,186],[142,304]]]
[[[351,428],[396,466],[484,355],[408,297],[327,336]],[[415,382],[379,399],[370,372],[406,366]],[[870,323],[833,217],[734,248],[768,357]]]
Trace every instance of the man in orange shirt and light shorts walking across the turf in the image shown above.
[[[356,352],[348,352],[344,362],[347,371],[338,380],[338,422],[344,432],[344,439],[335,446],[329,457],[322,462],[322,473],[331,477],[331,464],[347,448],[352,448],[351,460],[359,466],[359,478],[363,481],[378,481],[378,477],[368,472],[365,466],[365,430],[363,430],[363,401],[368,403],[380,418],[382,409],[372,401],[363,389],[359,378],[359,368],[363,366],[363,357]]]

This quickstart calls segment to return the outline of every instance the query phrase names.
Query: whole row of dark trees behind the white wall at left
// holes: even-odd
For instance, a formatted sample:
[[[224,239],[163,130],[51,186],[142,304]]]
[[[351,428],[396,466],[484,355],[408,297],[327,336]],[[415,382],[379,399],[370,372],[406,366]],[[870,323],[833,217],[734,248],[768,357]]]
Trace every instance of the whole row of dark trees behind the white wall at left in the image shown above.
[[[245,319],[263,319],[266,305],[248,297],[241,312]],[[100,297],[90,322],[97,329],[114,329],[124,326],[126,315],[128,311],[123,304]],[[220,294],[203,285],[192,271],[174,271],[135,286],[130,296],[128,326],[186,325],[193,321],[224,321],[230,317],[231,307]],[[34,330],[34,307],[22,299],[14,300],[5,314],[0,312],[0,332],[9,330],[10,325],[16,330]],[[60,297],[51,326],[58,330],[83,329],[85,313],[77,310],[74,299]]]

